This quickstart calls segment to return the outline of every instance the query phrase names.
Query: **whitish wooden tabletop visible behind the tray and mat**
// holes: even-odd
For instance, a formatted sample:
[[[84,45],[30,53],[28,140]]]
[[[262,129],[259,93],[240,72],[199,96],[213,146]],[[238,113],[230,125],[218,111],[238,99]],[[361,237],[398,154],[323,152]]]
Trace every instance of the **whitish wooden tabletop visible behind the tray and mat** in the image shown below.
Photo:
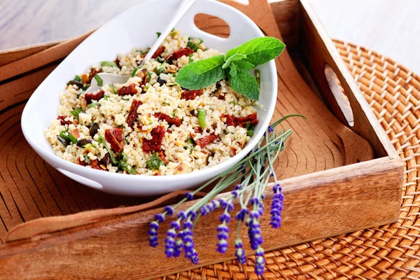
[[[2,0],[0,50],[78,36],[143,1]],[[420,0],[309,1],[332,38],[376,50],[420,73]]]

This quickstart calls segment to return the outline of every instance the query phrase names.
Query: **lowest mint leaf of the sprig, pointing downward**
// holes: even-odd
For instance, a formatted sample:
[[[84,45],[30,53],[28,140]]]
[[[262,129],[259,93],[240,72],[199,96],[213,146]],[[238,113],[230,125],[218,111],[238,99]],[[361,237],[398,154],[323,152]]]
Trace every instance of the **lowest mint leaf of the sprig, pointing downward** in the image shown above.
[[[236,92],[249,99],[258,100],[260,97],[260,87],[251,73],[247,71],[238,71],[235,77],[229,76],[230,86]]]

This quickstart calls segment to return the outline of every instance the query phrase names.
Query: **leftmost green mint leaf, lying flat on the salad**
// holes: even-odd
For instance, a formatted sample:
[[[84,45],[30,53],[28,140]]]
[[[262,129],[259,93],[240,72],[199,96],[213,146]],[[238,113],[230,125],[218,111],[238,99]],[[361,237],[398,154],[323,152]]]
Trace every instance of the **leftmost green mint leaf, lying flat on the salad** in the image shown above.
[[[224,62],[223,55],[216,55],[183,66],[176,75],[176,83],[188,90],[201,90],[203,87],[213,85],[226,78],[226,71],[222,69]]]

